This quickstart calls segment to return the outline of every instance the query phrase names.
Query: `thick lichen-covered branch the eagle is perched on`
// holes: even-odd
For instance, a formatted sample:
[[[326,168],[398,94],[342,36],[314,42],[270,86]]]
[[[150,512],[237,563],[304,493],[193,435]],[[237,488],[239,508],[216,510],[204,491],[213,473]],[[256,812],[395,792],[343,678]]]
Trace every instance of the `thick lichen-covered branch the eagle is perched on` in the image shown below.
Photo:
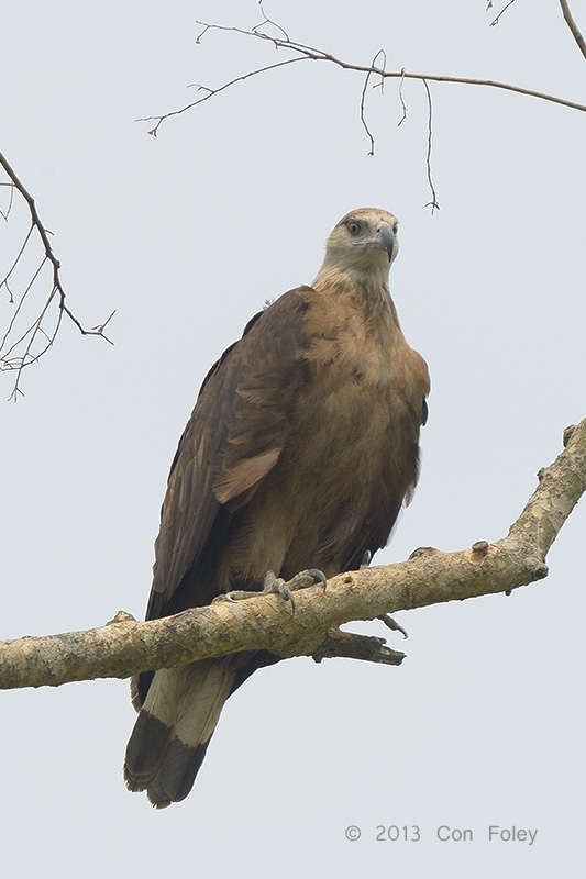
[[[508,592],[548,575],[545,556],[586,490],[586,419],[566,429],[564,441],[556,460],[540,471],[539,486],[508,536],[494,544],[478,541],[456,553],[428,547],[397,565],[341,574],[328,581],[325,592],[321,586],[298,592],[295,615],[277,596],[263,596],[146,623],[120,612],[100,628],[3,642],[0,688],[125,678],[254,649],[384,661],[382,644],[368,646],[364,636],[330,630],[352,620]]]

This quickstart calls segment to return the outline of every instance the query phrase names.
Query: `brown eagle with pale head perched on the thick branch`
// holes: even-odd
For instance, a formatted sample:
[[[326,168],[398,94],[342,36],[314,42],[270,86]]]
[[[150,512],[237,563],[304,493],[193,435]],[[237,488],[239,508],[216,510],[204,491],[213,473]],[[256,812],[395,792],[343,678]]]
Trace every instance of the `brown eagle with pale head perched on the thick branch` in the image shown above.
[[[418,480],[430,389],[389,293],[397,229],[379,209],[342,218],[311,287],[255,314],[209,370],[170,467],[147,620],[221,596],[292,601],[386,545]],[[184,800],[226,699],[278,659],[134,678],[128,788],[158,809]]]

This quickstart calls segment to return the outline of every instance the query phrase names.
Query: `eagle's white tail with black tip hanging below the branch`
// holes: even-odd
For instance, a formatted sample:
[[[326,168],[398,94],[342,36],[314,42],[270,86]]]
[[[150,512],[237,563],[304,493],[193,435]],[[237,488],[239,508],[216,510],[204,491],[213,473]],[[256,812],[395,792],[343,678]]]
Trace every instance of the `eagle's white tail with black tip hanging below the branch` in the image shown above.
[[[233,681],[217,659],[156,672],[126,747],[129,790],[146,790],[157,809],[187,797]]]

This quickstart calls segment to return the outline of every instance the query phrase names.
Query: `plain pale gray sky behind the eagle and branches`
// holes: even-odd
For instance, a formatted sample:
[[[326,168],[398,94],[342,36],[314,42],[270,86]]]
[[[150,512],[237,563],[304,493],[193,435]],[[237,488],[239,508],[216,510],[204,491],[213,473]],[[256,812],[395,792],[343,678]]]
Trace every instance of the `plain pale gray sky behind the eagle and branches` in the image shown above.
[[[585,102],[585,63],[557,3],[518,0],[489,27],[501,5],[266,10],[294,38],[350,60],[384,47],[389,69]],[[574,7],[586,31],[584,3]],[[197,46],[196,19],[246,27],[259,15],[253,0],[2,11],[0,148],[54,233],[70,308],[86,325],[118,310],[115,347],[66,322],[24,374],[26,397],[1,404],[3,637],[144,613],[168,467],[208,367],[266,298],[311,281],[353,208],[400,220],[391,291],[432,376],[420,486],[377,563],[504,536],[563,429],[586,414],[584,114],[432,84],[431,216],[421,82],[405,85],[400,129],[396,81],[369,92],[374,158],[362,79],[319,64],[255,77],[147,136],[134,120],[192,100],[189,84],[280,57],[232,34]],[[15,210],[10,230],[18,223]],[[9,252],[0,243],[2,260]],[[5,322],[5,297],[0,309]],[[12,378],[0,375],[2,399]],[[0,869],[576,875],[585,513],[564,526],[546,580],[400,614],[400,669],[296,659],[255,675],[229,701],[190,797],[161,813],[122,781],[134,721],[125,681],[3,693]],[[349,825],[358,841],[346,841]],[[421,839],[377,842],[389,825],[418,825]],[[440,825],[474,839],[440,842]],[[489,843],[489,825],[538,835]]]

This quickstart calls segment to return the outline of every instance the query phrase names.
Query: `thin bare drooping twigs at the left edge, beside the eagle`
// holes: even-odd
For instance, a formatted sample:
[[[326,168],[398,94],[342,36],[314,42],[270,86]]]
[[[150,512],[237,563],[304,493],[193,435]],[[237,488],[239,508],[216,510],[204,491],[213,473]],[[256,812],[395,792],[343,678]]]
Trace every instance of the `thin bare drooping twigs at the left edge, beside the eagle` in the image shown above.
[[[24,201],[29,207],[29,212],[31,215],[31,225],[29,226],[29,231],[24,236],[24,241],[12,262],[8,272],[4,275],[3,279],[0,281],[0,290],[2,287],[7,289],[9,294],[9,304],[15,305],[15,309],[12,313],[12,316],[8,323],[8,329],[5,330],[2,338],[0,340],[0,370],[15,370],[16,378],[14,381],[14,387],[12,389],[12,393],[10,394],[10,399],[14,401],[18,399],[19,394],[22,394],[22,390],[20,389],[20,380],[22,376],[22,370],[30,366],[33,363],[38,363],[38,359],[45,354],[48,348],[55,342],[57,333],[59,331],[63,315],[66,314],[70,321],[77,326],[79,332],[82,335],[87,336],[102,336],[107,342],[112,345],[113,343],[108,336],[104,334],[104,329],[113,318],[114,312],[110,314],[108,320],[106,320],[99,326],[92,326],[91,330],[86,330],[81,322],[76,318],[73,311],[66,304],[66,293],[63,288],[60,277],[59,277],[59,269],[60,263],[57,259],[53,247],[49,241],[49,232],[43,225],[41,218],[38,216],[38,212],[36,210],[36,204],[34,202],[33,197],[29,192],[29,190],[24,187],[21,182],[16,173],[9,164],[5,156],[0,153],[0,165],[4,169],[9,181],[8,183],[3,183],[10,188],[10,200],[8,208],[4,212],[2,212],[2,218],[8,221],[12,207],[13,207],[13,196],[14,190],[20,192]],[[16,270],[16,267],[21,264],[21,260],[25,253],[27,253],[29,244],[33,241],[33,233],[36,233],[37,240],[41,241],[42,248],[43,248],[43,256],[41,257],[40,263],[37,263],[36,268],[32,272],[29,282],[25,285],[24,290],[18,296],[18,301],[15,301],[14,294],[12,292],[11,283],[12,283],[12,276]],[[52,266],[52,288],[48,293],[48,297],[45,300],[45,304],[41,308],[40,313],[34,318],[33,322],[23,331],[21,334],[14,338],[15,333],[18,332],[18,319],[22,313],[23,307],[25,304],[26,298],[35,281],[37,280],[38,276],[41,275],[43,268],[46,264]],[[52,304],[56,301],[57,304],[57,315],[53,323],[53,325],[47,330],[47,321],[48,321],[48,313],[51,310]],[[41,342],[41,349],[38,349],[37,342]]]

